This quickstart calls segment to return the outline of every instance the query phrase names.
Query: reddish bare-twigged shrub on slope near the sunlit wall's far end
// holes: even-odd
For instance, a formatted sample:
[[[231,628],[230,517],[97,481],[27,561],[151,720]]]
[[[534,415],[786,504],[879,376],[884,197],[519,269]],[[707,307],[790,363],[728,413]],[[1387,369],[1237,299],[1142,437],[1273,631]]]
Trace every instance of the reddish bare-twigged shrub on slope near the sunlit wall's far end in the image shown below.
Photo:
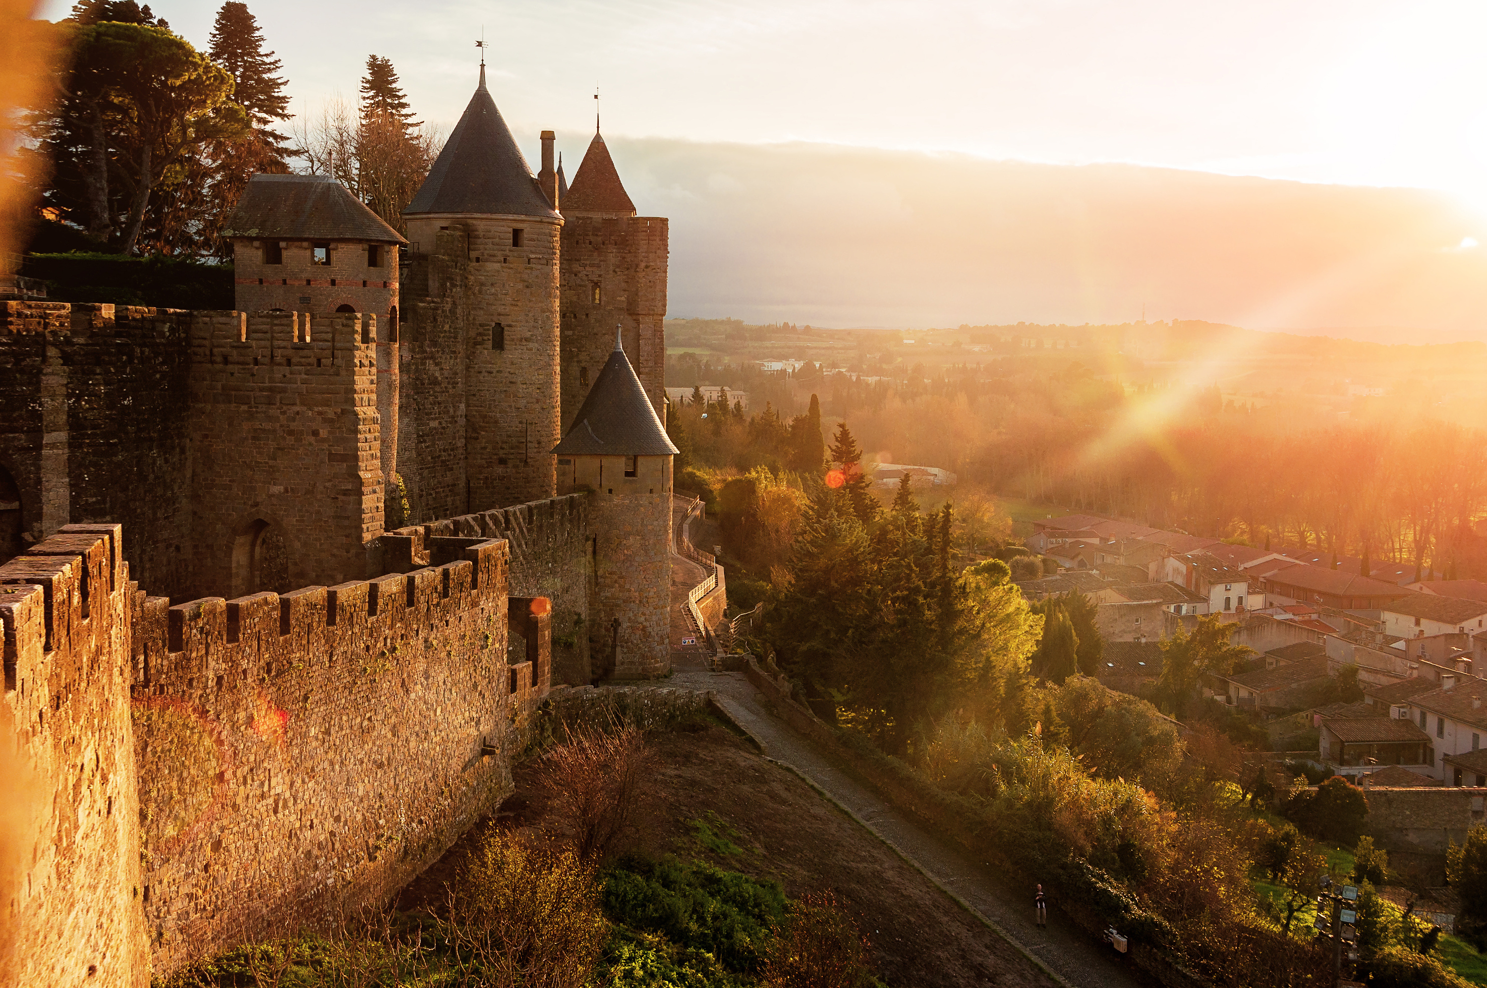
[[[654,757],[645,735],[629,722],[567,735],[543,753],[540,784],[553,815],[571,827],[578,857],[602,859],[633,823]]]

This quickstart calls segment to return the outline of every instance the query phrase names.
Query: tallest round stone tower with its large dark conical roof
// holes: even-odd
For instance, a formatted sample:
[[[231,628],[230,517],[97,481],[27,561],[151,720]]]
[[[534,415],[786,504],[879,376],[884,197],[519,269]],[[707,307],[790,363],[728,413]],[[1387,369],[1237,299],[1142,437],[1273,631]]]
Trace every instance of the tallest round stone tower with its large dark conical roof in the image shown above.
[[[409,286],[422,304],[409,305],[403,400],[404,442],[421,458],[406,478],[415,513],[552,497],[562,217],[501,119],[485,65],[403,217],[422,265]]]

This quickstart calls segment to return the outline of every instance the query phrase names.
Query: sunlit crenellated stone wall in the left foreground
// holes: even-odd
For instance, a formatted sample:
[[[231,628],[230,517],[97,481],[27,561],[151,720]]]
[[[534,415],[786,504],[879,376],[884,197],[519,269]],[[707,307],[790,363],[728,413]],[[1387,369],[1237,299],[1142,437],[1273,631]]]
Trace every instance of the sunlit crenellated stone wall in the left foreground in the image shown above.
[[[0,985],[89,966],[144,985],[152,961],[384,902],[510,792],[550,686],[547,601],[509,597],[506,542],[431,549],[412,573],[175,607],[128,582],[117,525],[0,567],[7,720],[55,793],[4,903],[27,967]]]

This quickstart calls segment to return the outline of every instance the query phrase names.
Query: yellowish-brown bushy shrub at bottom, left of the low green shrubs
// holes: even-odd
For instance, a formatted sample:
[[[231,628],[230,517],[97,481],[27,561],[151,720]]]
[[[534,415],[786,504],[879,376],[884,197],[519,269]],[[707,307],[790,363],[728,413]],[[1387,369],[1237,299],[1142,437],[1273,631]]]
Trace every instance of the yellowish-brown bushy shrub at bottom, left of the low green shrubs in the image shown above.
[[[584,985],[608,936],[590,866],[495,829],[482,835],[436,923],[482,975],[476,984],[492,988]]]

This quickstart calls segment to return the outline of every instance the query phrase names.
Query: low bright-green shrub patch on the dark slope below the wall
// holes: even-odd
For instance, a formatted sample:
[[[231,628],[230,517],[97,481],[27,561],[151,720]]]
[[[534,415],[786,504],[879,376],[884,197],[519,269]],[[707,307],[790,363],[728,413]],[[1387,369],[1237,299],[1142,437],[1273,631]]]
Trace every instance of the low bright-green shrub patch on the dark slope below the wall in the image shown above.
[[[706,951],[729,970],[752,972],[770,927],[785,915],[785,893],[778,882],[703,862],[626,856],[605,875],[604,911],[616,923]]]

